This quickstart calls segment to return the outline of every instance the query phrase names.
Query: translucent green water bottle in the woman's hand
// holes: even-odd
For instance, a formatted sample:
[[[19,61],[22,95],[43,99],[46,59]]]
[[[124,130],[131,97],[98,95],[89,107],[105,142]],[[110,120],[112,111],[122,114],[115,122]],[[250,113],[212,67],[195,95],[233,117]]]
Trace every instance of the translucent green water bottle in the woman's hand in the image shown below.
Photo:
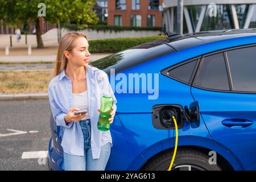
[[[110,127],[109,118],[111,107],[113,106],[114,100],[111,96],[101,97],[101,111],[98,117],[98,129],[101,131],[108,131]]]

